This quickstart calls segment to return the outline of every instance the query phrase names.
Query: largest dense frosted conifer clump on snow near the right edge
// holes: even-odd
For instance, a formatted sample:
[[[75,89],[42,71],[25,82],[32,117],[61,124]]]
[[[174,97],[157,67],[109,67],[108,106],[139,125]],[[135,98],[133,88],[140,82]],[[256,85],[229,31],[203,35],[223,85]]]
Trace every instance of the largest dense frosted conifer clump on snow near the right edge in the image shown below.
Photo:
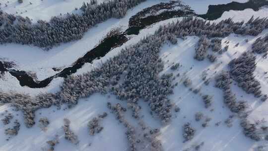
[[[243,53],[239,58],[229,63],[230,74],[247,93],[254,94],[255,97],[262,95],[261,84],[255,78],[256,57],[248,52]]]

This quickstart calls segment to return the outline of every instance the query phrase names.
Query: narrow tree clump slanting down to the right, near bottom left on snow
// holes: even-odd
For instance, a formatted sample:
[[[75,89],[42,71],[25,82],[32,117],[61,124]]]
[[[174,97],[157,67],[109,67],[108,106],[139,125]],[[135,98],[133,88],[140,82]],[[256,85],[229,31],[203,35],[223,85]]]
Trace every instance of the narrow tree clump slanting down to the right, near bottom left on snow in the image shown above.
[[[79,143],[77,135],[75,135],[71,130],[70,130],[70,121],[68,119],[64,119],[64,126],[63,130],[65,133],[65,139],[70,141],[72,144],[77,145]]]

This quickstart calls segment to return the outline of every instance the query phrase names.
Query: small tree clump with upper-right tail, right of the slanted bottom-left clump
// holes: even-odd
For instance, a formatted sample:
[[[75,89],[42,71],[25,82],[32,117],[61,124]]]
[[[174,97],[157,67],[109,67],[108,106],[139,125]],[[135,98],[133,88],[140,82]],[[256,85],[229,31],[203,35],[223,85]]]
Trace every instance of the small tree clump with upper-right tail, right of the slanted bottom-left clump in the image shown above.
[[[108,114],[104,112],[102,115],[98,117],[94,117],[87,124],[89,129],[89,135],[94,136],[96,133],[100,133],[103,130],[103,127],[100,125],[100,121],[105,118]]]

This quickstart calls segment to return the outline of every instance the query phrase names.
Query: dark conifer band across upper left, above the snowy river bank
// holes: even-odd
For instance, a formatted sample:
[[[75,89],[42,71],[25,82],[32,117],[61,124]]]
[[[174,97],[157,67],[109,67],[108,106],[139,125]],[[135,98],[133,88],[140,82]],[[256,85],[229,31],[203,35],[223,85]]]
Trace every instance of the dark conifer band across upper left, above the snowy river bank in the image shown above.
[[[82,14],[54,16],[49,22],[32,24],[28,17],[0,10],[0,43],[18,43],[50,49],[60,43],[81,39],[92,26],[109,18],[121,18],[127,10],[145,0],[109,0],[101,4],[83,4]]]

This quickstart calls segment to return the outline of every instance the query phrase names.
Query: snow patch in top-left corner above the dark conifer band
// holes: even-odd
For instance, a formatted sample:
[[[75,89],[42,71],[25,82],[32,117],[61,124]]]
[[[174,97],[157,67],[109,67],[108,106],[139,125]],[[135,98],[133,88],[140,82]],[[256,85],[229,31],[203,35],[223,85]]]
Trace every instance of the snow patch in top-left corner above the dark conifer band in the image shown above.
[[[97,1],[101,3],[105,0]],[[19,3],[18,0],[0,0],[0,8],[10,14],[28,16],[36,22],[38,20],[49,21],[52,16],[58,16],[61,13],[75,13],[77,12],[75,8],[79,9],[83,2],[90,3],[90,0],[23,0],[23,3]]]

